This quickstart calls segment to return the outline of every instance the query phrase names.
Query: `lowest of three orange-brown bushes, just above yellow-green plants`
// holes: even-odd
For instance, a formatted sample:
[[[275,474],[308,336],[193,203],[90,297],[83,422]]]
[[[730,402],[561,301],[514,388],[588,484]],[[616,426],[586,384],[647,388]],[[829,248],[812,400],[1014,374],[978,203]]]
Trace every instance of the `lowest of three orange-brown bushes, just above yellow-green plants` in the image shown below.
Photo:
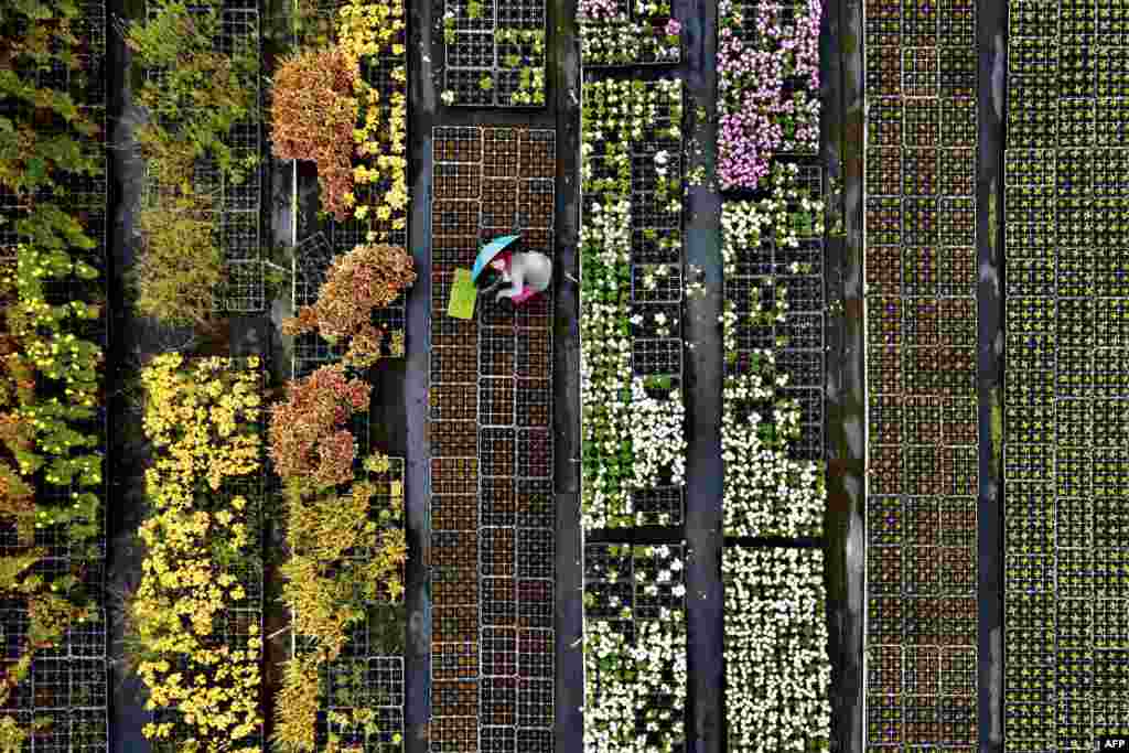
[[[271,409],[271,459],[283,479],[324,489],[351,481],[357,445],[350,417],[368,408],[373,387],[350,379],[341,365],[323,366],[290,383],[285,402]]]

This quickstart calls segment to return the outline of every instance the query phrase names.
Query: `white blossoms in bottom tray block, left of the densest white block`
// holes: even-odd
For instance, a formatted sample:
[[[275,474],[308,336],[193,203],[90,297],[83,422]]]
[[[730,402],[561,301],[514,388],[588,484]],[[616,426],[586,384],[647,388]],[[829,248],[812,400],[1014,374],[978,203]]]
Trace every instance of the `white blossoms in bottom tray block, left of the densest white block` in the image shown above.
[[[585,753],[671,753],[685,744],[681,551],[681,546],[637,546],[632,553],[637,562],[654,563],[654,572],[634,569],[637,604],[662,592],[680,597],[676,608],[662,607],[656,619],[640,619],[623,606],[615,620],[585,619]],[[629,625],[633,638],[627,634]]]

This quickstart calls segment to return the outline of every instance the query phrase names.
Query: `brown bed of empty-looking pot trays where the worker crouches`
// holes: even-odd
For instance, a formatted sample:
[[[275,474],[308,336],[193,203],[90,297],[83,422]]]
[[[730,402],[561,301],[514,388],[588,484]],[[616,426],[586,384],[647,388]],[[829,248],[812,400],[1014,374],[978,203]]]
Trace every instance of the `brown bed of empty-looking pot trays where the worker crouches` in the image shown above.
[[[555,133],[436,128],[431,203],[431,750],[552,751],[552,290],[447,315],[456,269],[515,229],[554,255]]]

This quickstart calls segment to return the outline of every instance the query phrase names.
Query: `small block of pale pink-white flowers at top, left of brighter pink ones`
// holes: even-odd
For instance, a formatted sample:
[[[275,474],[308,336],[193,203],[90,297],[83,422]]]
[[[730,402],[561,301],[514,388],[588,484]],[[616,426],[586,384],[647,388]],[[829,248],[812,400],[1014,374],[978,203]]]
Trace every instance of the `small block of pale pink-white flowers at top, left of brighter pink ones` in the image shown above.
[[[580,0],[580,53],[588,65],[676,63],[682,25],[669,0]]]

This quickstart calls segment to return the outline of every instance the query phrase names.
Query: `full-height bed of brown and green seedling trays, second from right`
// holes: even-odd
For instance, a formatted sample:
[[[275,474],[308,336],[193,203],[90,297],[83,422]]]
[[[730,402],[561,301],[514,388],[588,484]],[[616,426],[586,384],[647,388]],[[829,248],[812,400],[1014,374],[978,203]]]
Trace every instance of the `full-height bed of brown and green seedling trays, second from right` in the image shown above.
[[[945,682],[979,642],[974,3],[866,28],[866,741],[974,746],[977,674]]]

